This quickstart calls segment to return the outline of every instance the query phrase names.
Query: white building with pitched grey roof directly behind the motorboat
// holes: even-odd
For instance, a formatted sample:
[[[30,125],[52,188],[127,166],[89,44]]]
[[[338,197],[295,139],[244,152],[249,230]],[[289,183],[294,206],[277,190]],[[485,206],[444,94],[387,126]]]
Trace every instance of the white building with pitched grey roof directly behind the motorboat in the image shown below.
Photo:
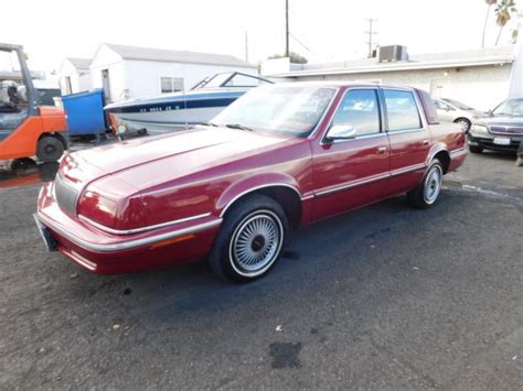
[[[190,89],[223,72],[257,75],[257,68],[230,55],[102,44],[89,64],[92,88],[107,101]]]

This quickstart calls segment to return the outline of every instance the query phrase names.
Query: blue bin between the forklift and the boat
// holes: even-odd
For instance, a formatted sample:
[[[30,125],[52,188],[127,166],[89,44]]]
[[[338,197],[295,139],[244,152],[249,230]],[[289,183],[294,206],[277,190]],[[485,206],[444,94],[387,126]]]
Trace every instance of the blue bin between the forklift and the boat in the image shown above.
[[[70,135],[105,133],[105,96],[102,88],[63,96],[62,102]]]

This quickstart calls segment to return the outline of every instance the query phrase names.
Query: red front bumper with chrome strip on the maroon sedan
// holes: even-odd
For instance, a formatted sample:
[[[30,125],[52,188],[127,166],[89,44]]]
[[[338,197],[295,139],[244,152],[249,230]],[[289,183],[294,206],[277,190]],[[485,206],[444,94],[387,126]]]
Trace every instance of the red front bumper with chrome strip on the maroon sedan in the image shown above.
[[[222,222],[209,216],[141,233],[111,235],[65,214],[50,194],[42,188],[34,215],[47,249],[99,274],[140,272],[201,259],[211,250]]]

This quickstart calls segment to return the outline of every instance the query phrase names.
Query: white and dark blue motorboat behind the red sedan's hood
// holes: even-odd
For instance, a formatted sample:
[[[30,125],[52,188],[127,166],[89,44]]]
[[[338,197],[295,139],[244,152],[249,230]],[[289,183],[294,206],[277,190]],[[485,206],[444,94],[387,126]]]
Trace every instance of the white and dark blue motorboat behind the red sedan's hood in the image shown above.
[[[252,88],[273,82],[239,72],[206,77],[189,91],[162,94],[107,105],[113,131],[124,134],[159,134],[209,122]]]

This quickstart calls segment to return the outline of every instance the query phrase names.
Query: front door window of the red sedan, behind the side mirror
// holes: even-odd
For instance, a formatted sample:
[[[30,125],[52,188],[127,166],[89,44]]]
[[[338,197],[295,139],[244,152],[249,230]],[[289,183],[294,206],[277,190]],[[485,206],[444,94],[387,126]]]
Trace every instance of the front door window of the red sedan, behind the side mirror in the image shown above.
[[[338,108],[332,126],[354,128],[356,135],[380,133],[380,107],[375,89],[350,90]]]

